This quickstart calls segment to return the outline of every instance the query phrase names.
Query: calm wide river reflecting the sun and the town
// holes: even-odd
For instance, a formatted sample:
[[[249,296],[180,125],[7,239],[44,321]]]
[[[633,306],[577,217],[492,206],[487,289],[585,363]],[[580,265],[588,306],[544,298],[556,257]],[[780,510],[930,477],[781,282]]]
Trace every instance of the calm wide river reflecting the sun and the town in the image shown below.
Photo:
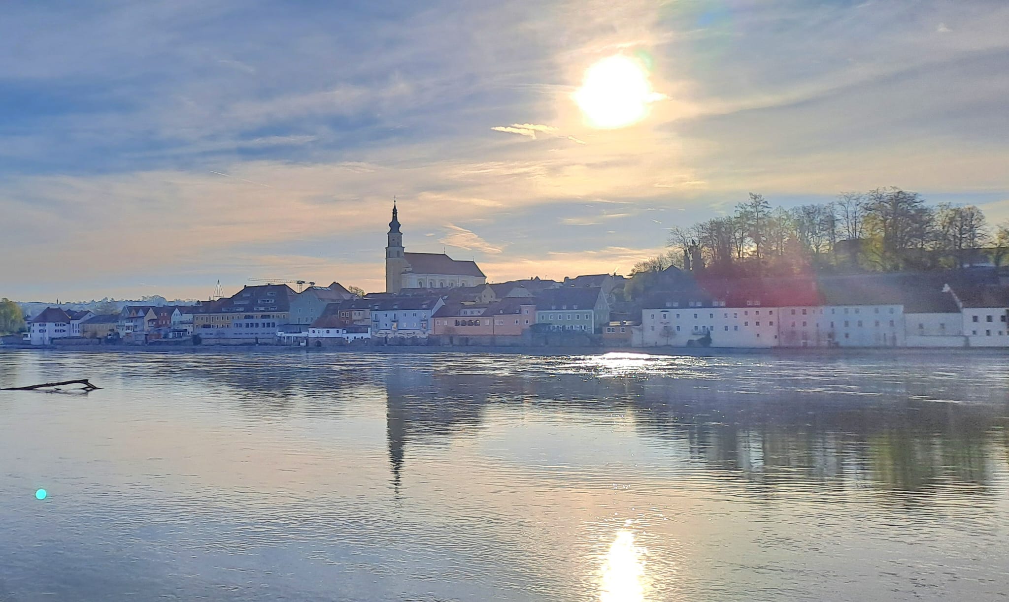
[[[0,391],[4,602],[1009,592],[998,353],[0,353],[80,377]]]

